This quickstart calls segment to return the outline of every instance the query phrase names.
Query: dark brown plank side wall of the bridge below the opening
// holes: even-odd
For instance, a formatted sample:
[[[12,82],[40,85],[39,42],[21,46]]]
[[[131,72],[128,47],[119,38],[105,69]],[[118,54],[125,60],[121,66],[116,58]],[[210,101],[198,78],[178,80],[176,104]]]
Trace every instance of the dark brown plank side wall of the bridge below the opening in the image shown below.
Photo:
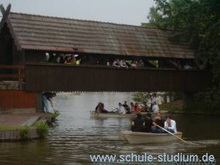
[[[198,70],[26,64],[27,91],[199,91],[211,74]]]

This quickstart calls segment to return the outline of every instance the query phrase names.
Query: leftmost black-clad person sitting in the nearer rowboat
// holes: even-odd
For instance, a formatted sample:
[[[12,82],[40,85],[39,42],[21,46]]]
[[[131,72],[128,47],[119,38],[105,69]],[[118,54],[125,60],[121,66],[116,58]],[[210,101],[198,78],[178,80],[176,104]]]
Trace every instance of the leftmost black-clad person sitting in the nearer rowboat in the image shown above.
[[[137,117],[131,122],[131,131],[133,132],[144,132],[145,130],[145,122],[142,119],[142,115],[140,113],[137,114]]]

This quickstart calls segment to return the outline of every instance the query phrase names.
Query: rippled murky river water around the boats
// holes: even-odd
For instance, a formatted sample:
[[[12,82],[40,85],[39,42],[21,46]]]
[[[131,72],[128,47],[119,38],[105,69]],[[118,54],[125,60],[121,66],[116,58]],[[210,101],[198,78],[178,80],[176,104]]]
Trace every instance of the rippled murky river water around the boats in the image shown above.
[[[90,155],[214,155],[220,161],[219,116],[173,115],[179,131],[189,143],[131,145],[118,139],[130,128],[130,119],[94,119],[89,111],[98,102],[108,110],[118,101],[130,102],[131,93],[62,93],[54,99],[60,116],[47,139],[0,143],[0,164],[77,165],[92,164]],[[207,156],[207,154],[208,156]],[[131,158],[131,157],[129,157]],[[131,159],[128,159],[131,160]],[[139,159],[140,160],[140,159]],[[105,164],[105,163],[102,163]],[[146,164],[146,163],[145,163]],[[152,163],[153,164],[153,163]],[[155,164],[155,163],[154,163]],[[174,164],[174,163],[169,163]],[[184,163],[182,163],[184,164]]]

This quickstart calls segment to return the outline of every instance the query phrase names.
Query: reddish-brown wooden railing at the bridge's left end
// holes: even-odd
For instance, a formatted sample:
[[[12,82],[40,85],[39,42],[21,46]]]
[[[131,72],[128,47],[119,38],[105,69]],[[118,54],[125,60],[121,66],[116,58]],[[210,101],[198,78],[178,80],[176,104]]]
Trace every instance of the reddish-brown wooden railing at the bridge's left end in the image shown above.
[[[0,80],[18,81],[22,85],[25,79],[24,69],[22,65],[0,65]]]

